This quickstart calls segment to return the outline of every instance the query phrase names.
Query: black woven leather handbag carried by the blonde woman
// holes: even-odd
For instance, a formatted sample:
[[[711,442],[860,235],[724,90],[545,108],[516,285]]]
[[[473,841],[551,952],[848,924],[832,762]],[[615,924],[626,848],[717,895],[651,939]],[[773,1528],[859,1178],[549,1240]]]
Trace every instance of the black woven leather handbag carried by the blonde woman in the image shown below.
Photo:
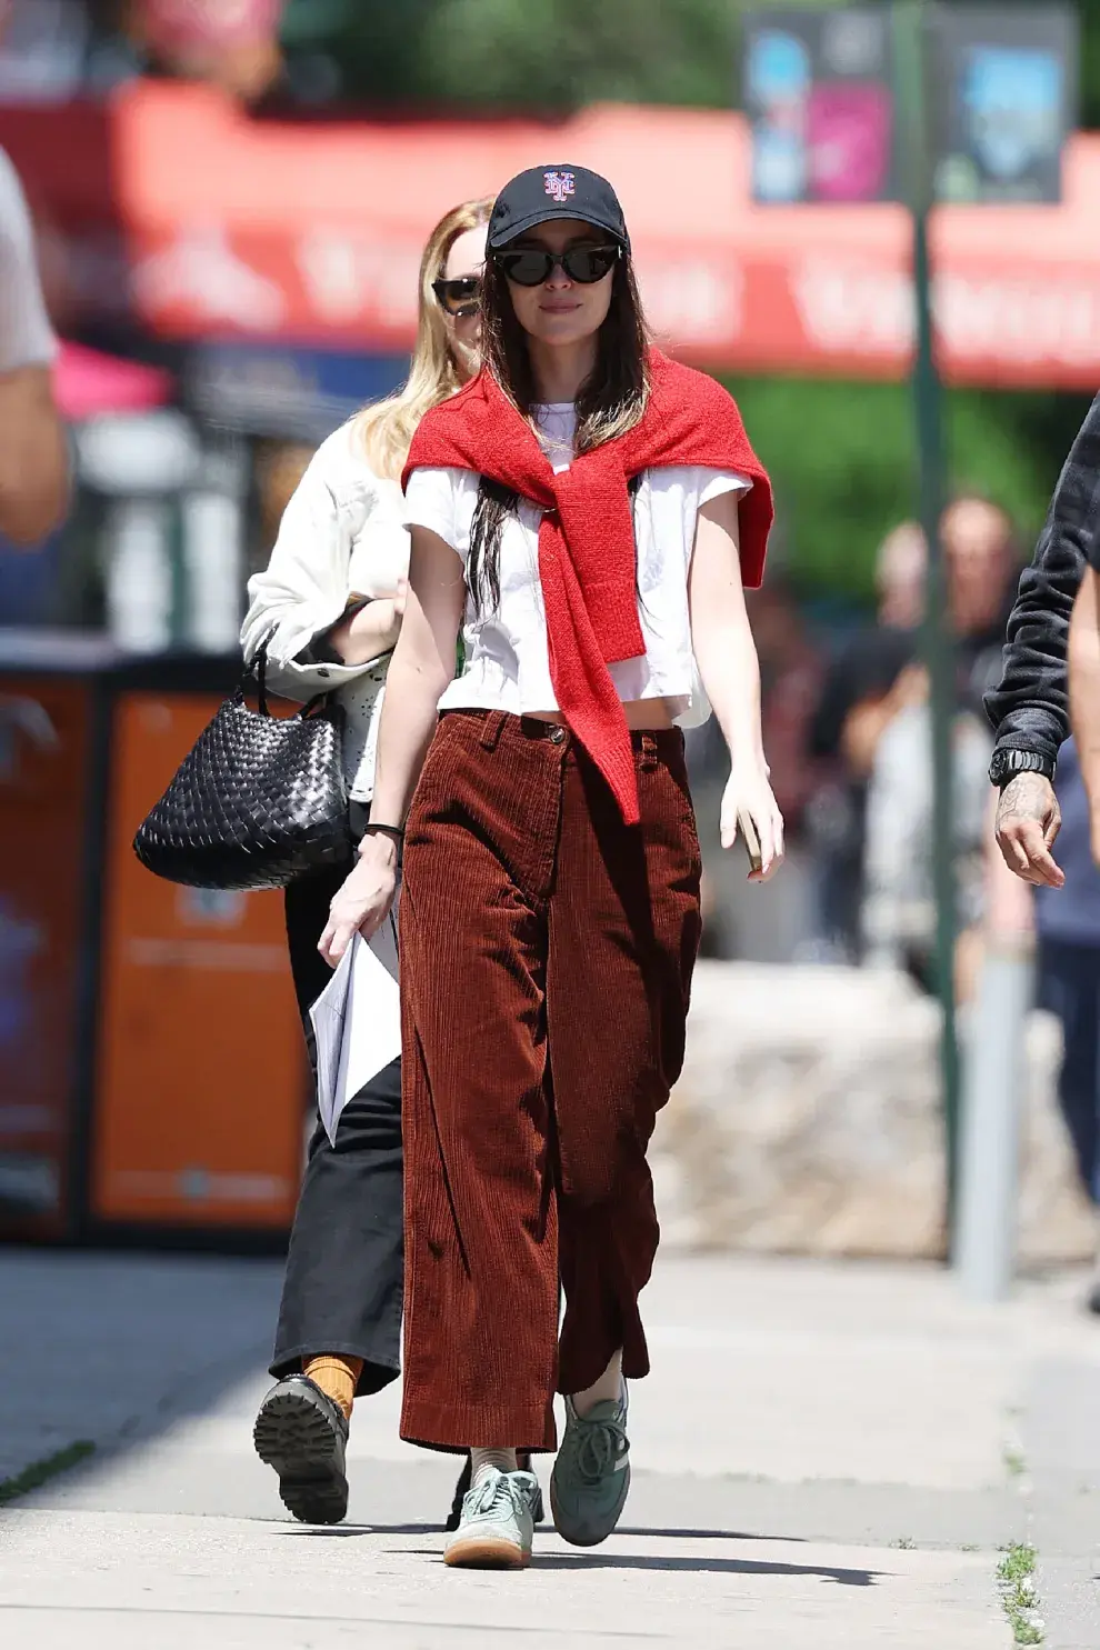
[[[272,716],[266,653],[201,731],[134,838],[142,865],[190,888],[285,888],[351,853],[343,711]],[[252,676],[259,713],[244,693]]]

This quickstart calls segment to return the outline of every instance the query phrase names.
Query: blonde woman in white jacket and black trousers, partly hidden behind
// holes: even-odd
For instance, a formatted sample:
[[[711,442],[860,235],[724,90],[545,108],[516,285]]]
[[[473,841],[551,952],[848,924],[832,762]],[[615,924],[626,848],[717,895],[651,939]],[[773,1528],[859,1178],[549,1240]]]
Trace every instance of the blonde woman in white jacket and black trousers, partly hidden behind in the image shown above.
[[[246,660],[267,652],[270,686],[345,708],[351,835],[366,823],[374,733],[409,568],[401,469],[421,417],[478,366],[480,284],[491,201],[468,201],[435,226],[421,262],[409,381],[317,450],[282,518],[266,573],[249,582]],[[294,983],[313,1059],[308,1008],[328,967],[317,942],[348,866],[287,889]],[[279,1383],[256,1421],[256,1449],[279,1473],[289,1510],[338,1523],[348,1506],[351,1404],[399,1371],[402,1304],[401,1061],[379,1071],[340,1115],[335,1143],[317,1125],[290,1236],[275,1353]]]

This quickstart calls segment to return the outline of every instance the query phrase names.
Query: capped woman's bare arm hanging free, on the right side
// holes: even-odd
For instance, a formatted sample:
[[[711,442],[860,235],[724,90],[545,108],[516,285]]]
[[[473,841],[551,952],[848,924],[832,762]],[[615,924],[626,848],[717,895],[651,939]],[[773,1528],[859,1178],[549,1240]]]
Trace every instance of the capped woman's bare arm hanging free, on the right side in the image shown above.
[[[721,493],[699,510],[688,578],[691,644],[706,695],[731,757],[722,797],[722,846],[747,815],[760,838],[764,879],[783,858],[783,818],[772,795],[760,733],[760,667],[740,582],[737,493]]]

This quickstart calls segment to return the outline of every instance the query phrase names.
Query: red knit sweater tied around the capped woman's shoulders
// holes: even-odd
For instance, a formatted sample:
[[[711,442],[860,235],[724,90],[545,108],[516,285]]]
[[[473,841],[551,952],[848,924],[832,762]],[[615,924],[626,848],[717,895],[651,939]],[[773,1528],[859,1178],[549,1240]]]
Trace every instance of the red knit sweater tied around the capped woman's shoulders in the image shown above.
[[[737,470],[752,482],[740,500],[740,576],[759,586],[773,513],[767,472],[734,398],[658,350],[650,351],[642,421],[557,475],[528,421],[483,371],[422,419],[402,477],[407,485],[412,470],[473,470],[544,510],[539,579],[557,708],[628,825],[638,820],[638,787],[627,718],[607,668],[645,653],[627,483],[668,465]]]

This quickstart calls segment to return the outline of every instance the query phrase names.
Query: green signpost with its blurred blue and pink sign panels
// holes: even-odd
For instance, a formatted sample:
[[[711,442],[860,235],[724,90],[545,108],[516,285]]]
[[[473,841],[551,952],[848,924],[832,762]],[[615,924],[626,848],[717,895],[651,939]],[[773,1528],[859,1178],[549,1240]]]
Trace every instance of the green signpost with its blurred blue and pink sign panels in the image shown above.
[[[928,546],[924,653],[930,681],[935,965],[942,1005],[947,1203],[955,1214],[960,1061],[955,1035],[955,657],[940,543],[947,497],[928,216],[937,201],[1060,198],[1075,124],[1075,12],[1042,7],[894,5],[787,10],[745,18],[744,104],[760,205],[900,200],[912,218],[912,391],[919,518]]]

